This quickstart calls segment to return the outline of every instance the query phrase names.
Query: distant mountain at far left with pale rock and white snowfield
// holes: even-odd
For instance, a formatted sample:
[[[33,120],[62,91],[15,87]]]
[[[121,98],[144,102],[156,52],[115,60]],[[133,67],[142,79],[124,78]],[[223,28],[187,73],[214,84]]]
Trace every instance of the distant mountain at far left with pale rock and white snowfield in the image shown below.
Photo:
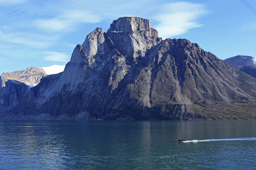
[[[7,110],[20,103],[31,87],[49,75],[60,73],[65,66],[28,67],[22,71],[3,73],[0,76],[0,110]]]

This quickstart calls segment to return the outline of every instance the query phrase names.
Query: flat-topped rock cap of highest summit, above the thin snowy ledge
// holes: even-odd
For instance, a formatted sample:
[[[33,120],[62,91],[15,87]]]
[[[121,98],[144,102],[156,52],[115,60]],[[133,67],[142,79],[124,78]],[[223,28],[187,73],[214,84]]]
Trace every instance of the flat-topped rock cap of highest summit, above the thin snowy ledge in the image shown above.
[[[110,25],[109,32],[131,32],[150,29],[150,21],[140,17],[121,17]]]

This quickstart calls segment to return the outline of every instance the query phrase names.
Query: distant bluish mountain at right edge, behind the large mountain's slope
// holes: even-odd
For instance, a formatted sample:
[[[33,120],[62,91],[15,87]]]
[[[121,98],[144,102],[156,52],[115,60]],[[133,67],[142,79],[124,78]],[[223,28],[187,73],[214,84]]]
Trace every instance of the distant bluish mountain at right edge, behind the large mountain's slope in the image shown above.
[[[256,78],[256,59],[246,55],[237,55],[224,60],[228,64],[244,73]]]

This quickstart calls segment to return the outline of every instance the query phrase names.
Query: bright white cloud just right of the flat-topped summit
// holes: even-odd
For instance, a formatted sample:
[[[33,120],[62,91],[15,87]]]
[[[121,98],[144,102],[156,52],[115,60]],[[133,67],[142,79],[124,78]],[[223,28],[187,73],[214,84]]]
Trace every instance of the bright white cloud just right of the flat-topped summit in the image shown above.
[[[189,29],[201,27],[197,19],[207,14],[204,4],[177,2],[164,5],[162,13],[156,15],[159,36],[169,38],[185,34]]]

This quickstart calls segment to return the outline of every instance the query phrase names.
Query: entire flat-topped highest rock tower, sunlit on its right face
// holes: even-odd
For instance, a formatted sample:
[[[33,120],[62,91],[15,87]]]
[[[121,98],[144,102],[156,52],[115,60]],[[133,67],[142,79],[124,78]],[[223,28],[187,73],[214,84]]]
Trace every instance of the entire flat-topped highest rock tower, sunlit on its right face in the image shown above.
[[[107,32],[108,41],[127,60],[144,57],[147,50],[161,42],[150,21],[140,17],[121,17],[114,20]]]

